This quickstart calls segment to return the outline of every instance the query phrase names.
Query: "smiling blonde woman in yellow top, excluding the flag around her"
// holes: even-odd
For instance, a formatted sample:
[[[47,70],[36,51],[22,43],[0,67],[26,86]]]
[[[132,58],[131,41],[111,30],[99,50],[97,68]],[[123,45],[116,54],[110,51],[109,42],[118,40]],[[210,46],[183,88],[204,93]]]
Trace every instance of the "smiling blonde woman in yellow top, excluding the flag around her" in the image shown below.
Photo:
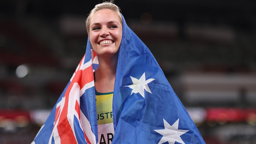
[[[88,37],[97,53],[99,67],[95,71],[98,140],[111,143],[114,134],[112,101],[118,53],[122,39],[122,17],[111,3],[97,4],[86,19]],[[108,118],[104,117],[107,113]]]

